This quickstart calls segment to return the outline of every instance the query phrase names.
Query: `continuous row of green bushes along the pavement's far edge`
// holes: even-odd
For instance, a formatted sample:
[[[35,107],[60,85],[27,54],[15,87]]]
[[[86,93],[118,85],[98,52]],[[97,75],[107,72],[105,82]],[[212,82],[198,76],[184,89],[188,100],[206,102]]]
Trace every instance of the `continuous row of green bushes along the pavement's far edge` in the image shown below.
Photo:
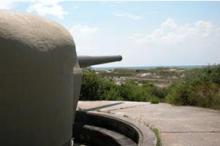
[[[220,65],[186,71],[185,78],[168,89],[149,82],[126,81],[117,85],[93,71],[83,72],[81,100],[166,101],[176,105],[195,105],[220,109]]]

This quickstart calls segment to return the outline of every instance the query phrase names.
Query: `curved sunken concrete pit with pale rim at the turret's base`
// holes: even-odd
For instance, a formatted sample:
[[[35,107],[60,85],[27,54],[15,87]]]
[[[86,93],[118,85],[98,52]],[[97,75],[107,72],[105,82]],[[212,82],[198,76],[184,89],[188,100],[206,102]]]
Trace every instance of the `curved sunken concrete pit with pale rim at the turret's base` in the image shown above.
[[[134,120],[101,112],[77,111],[73,125],[76,143],[94,146],[156,146],[153,131]]]

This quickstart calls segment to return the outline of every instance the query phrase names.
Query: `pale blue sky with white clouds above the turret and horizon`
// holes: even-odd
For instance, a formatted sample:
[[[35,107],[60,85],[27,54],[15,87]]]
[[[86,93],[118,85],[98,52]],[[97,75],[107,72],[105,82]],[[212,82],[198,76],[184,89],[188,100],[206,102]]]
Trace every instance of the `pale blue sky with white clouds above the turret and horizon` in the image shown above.
[[[68,29],[78,55],[117,55],[103,66],[220,63],[220,2],[0,0]]]

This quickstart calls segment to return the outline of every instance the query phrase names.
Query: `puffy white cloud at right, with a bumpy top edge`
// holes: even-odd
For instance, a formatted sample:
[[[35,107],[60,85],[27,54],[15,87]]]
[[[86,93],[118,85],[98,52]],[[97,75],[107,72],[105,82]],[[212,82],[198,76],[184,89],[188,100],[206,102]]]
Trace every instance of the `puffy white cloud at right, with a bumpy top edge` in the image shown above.
[[[219,34],[219,27],[209,21],[197,21],[194,24],[179,25],[168,18],[160,27],[150,33],[134,34],[131,38],[138,43],[176,44],[187,41],[202,41]]]

